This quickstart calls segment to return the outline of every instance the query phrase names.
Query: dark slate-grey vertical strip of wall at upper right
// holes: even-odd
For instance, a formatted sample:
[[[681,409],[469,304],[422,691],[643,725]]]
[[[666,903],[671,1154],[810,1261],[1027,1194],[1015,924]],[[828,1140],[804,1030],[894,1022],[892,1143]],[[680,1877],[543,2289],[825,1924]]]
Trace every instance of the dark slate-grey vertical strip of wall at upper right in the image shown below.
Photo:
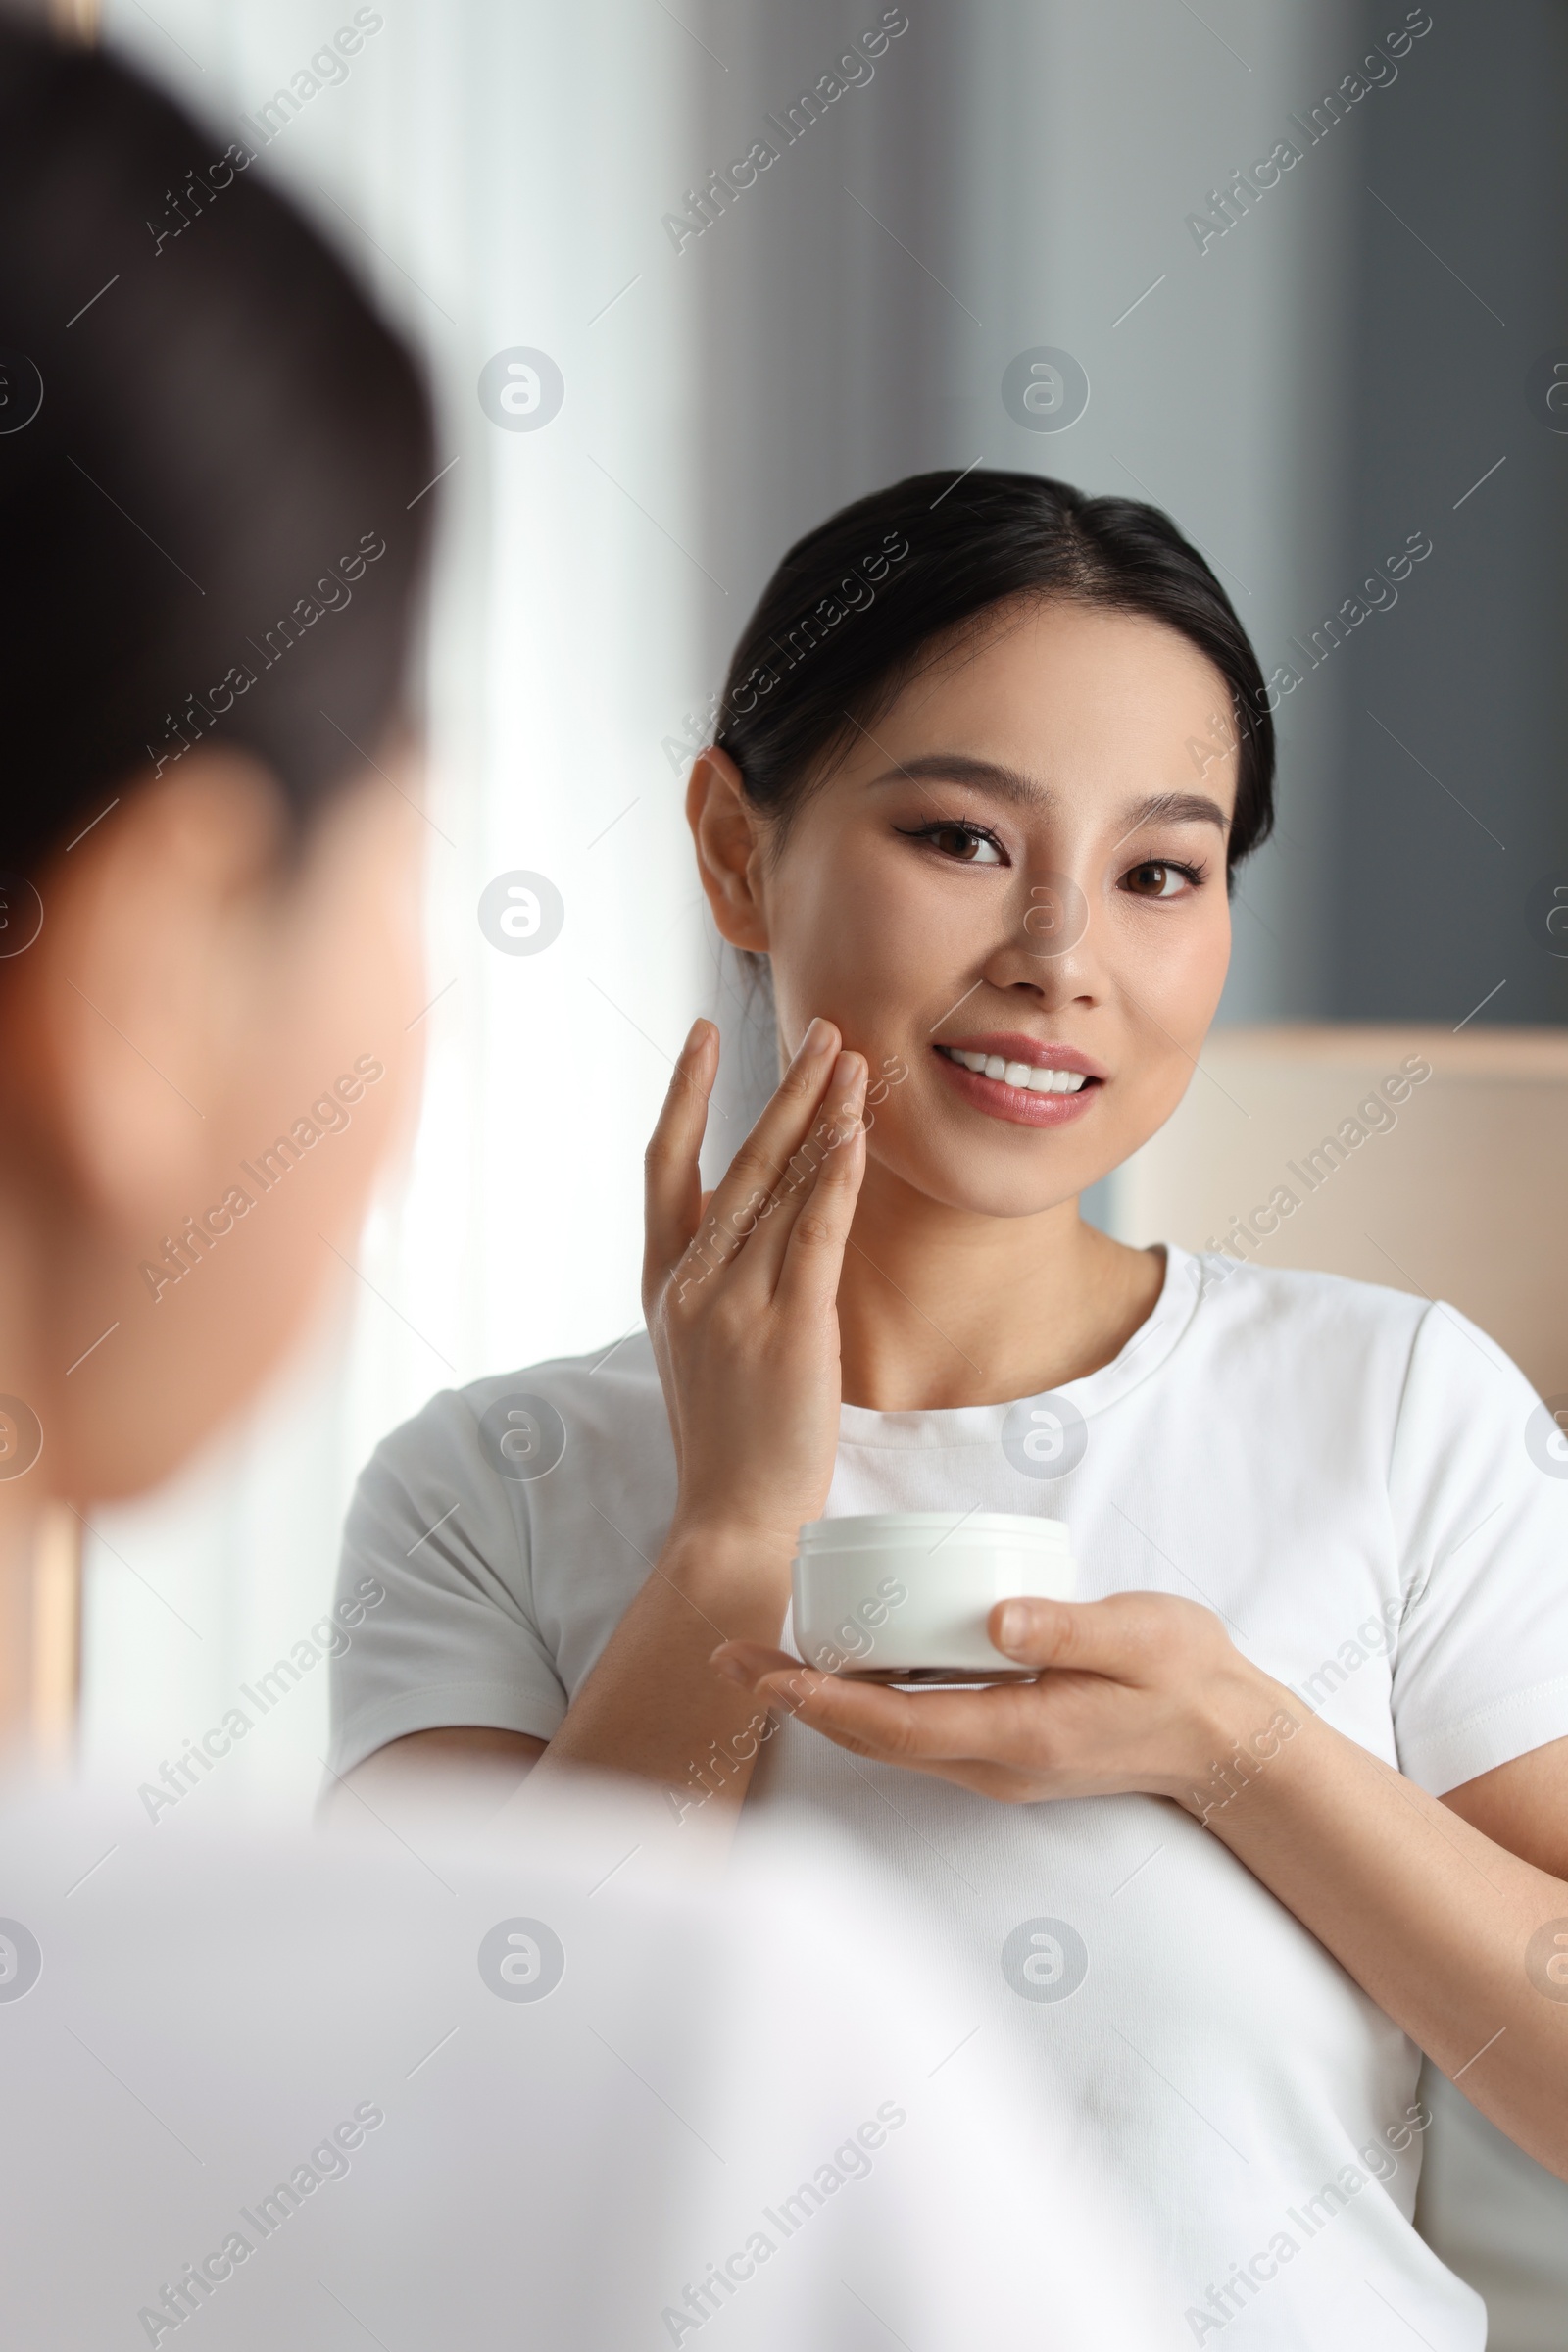
[[[1378,555],[1425,529],[1434,553],[1335,656],[1349,731],[1326,1009],[1453,1025],[1505,981],[1483,1021],[1568,1021],[1568,962],[1540,906],[1530,920],[1542,882],[1568,884],[1568,365],[1561,433],[1535,367],[1568,362],[1568,14],[1439,0],[1439,16],[1366,158],[1432,252],[1368,200],[1354,539]]]

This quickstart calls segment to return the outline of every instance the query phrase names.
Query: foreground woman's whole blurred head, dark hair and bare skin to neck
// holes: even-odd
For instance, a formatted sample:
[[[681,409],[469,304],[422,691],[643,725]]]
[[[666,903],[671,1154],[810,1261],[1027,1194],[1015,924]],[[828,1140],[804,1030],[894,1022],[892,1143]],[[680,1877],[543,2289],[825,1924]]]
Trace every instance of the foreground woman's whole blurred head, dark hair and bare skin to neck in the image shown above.
[[[416,1082],[428,397],[216,146],[0,26],[0,1559],[256,1388]]]

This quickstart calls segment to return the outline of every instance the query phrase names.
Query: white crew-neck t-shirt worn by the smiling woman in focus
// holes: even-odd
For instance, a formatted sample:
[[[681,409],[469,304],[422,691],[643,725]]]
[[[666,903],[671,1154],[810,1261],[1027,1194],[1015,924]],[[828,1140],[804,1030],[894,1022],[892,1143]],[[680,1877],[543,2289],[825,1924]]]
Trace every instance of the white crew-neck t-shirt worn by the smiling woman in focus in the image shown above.
[[[1034,1411],[844,1406],[827,1512],[1063,1517],[1084,1599],[1206,1602],[1434,1795],[1568,1736],[1568,1463],[1450,1308],[1171,1249],[1121,1355]],[[1081,1458],[1051,1479],[1023,1437],[1058,1425],[1056,1465]],[[343,1590],[374,1576],[386,1602],[339,1665],[334,1766],[433,1724],[550,1738],[672,1503],[642,1336],[435,1397],[348,1519]],[[1319,2352],[1403,2333],[1396,2312],[1434,2352],[1483,2343],[1481,2300],[1410,2227],[1415,2046],[1192,1816],[999,1806],[797,1722],[755,1795],[748,1816],[797,1806],[863,1839],[980,1957],[1041,2096],[1065,2079],[1140,2199],[1192,2340]],[[1030,1985],[1037,1933],[1056,1980]]]

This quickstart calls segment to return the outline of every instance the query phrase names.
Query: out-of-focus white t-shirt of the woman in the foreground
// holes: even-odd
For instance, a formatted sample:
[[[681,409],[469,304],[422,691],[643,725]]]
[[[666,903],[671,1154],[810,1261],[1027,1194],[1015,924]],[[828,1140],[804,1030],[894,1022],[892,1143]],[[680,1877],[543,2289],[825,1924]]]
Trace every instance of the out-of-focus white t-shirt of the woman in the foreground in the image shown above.
[[[0,1799],[7,2345],[1185,2343],[823,1842],[715,1889],[646,1790],[343,1851],[134,1778]]]

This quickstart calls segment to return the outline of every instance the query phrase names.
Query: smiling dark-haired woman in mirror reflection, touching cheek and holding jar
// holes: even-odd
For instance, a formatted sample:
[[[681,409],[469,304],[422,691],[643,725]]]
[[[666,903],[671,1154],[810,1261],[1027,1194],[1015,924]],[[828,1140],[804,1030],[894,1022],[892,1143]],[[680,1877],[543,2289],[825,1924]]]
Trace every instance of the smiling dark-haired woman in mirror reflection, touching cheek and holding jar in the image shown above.
[[[698,1021],[649,1150],[649,1338],[437,1397],[364,1472],[346,1576],[390,1604],[336,1764],[545,1755],[677,1811],[750,1785],[858,1830],[992,1969],[1067,1922],[1086,1978],[1032,2023],[1192,2336],[1258,2303],[1251,2340],[1371,2343],[1392,2307],[1448,2352],[1483,2319],[1410,2227],[1418,2053],[1568,2173],[1568,1515],[1535,1399],[1446,1308],[1077,1209],[1192,1077],[1265,706],[1152,508],[926,475],[790,550],[689,790],[783,1082],[703,1202]],[[992,1618],[1034,1679],[788,1656],[797,1526],[884,1508],[1070,1522],[1086,1597]]]

